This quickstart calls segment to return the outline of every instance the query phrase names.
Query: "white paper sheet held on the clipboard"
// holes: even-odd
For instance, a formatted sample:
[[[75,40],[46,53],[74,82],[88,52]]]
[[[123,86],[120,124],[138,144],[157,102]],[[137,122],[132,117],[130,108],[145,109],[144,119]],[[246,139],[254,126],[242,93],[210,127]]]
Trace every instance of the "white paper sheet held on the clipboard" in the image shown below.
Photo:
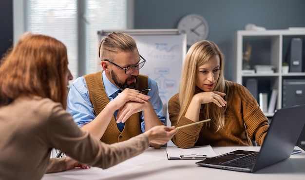
[[[213,148],[210,145],[194,146],[193,148],[183,149],[176,146],[167,146],[166,153],[168,160],[179,160],[180,156],[190,155],[206,155],[207,158],[217,156]]]

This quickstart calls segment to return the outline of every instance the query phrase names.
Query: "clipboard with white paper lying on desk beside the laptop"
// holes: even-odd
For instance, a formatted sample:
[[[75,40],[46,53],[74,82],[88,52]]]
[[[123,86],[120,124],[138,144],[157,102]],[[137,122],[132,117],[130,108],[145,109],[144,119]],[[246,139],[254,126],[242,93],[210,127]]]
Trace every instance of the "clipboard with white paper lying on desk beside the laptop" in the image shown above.
[[[194,146],[188,149],[167,146],[166,153],[168,160],[205,160],[217,156],[210,145]]]

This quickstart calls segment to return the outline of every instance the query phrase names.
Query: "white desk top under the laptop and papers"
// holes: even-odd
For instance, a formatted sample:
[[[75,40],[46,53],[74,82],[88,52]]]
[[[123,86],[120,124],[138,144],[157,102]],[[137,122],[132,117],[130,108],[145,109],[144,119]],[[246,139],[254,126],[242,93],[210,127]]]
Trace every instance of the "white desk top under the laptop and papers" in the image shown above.
[[[213,147],[213,149],[217,155],[221,155],[237,149],[259,151],[260,147]],[[295,147],[295,149],[300,148]],[[303,150],[302,153],[291,155],[289,159],[263,168],[255,173],[201,167],[195,164],[200,160],[167,160],[165,147],[161,149],[150,147],[137,158],[141,156],[143,158],[145,158],[144,156],[154,157],[154,159],[158,160],[147,161],[133,170],[116,171],[117,173],[113,173],[112,176],[106,178],[103,178],[103,175],[107,170],[100,170],[98,173],[100,173],[101,178],[98,178],[98,180],[305,180],[305,151]],[[123,169],[123,165],[121,165],[122,168],[120,165],[118,164],[114,167]],[[90,179],[89,171],[83,169],[76,171],[73,173],[81,172],[85,177],[84,179]],[[46,174],[42,180],[79,180],[79,176],[77,178],[67,177],[64,176],[64,173]],[[86,173],[88,174],[87,178]]]

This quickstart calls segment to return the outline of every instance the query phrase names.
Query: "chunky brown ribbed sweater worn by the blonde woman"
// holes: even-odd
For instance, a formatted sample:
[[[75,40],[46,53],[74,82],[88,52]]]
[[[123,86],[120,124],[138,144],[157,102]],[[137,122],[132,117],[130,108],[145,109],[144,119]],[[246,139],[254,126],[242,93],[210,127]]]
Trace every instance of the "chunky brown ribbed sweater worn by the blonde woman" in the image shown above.
[[[208,144],[211,146],[252,146],[251,140],[256,140],[258,145],[262,145],[269,128],[267,117],[246,87],[233,82],[229,83],[224,128],[215,132],[217,127],[212,122],[210,127],[197,124],[182,128],[172,138],[174,144],[181,148]],[[178,94],[169,101],[168,110],[172,125],[176,127],[193,122],[185,116],[178,122],[180,112]],[[202,109],[199,120],[204,120]]]

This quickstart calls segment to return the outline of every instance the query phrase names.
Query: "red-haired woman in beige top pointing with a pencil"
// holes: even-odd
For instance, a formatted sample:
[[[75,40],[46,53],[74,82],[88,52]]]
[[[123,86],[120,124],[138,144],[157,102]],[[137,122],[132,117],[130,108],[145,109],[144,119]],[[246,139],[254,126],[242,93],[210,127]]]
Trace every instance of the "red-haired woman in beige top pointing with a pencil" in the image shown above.
[[[177,131],[154,126],[111,145],[82,131],[65,110],[72,80],[66,46],[49,36],[20,40],[2,61],[0,75],[0,180],[40,180],[45,172],[82,167],[75,160],[108,168],[144,152],[149,143],[166,143]],[[112,100],[101,113],[111,119],[124,104]],[[74,160],[50,159],[52,148]]]

